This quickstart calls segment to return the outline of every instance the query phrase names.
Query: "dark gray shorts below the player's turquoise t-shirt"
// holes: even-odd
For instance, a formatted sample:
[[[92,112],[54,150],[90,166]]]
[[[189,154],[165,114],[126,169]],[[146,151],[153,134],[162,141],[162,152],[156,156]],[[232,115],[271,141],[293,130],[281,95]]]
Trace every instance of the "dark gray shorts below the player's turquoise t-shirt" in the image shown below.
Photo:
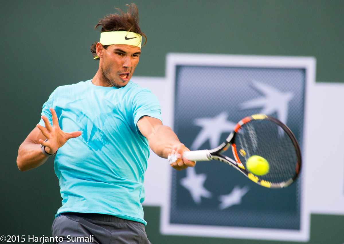
[[[151,244],[142,223],[107,214],[63,213],[55,218],[52,233],[54,243]]]

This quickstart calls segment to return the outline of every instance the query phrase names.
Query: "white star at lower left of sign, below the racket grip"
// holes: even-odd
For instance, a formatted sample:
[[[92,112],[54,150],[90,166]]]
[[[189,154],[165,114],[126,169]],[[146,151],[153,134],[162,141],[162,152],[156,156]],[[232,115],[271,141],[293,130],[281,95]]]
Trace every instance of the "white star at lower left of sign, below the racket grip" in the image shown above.
[[[212,193],[203,186],[206,178],[205,174],[196,174],[195,168],[189,167],[186,169],[186,177],[180,180],[181,185],[190,191],[192,199],[197,204],[201,203],[201,197],[212,197]]]

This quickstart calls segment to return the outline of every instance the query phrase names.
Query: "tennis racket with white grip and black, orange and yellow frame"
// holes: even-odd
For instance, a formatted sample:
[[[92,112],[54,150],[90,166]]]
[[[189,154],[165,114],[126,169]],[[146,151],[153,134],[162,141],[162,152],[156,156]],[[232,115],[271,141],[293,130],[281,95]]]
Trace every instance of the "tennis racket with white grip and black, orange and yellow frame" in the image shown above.
[[[235,160],[223,155],[229,147]],[[269,163],[269,171],[257,176],[247,170],[251,156],[260,156]],[[264,114],[240,120],[226,141],[212,150],[186,151],[183,158],[191,161],[219,160],[233,166],[250,180],[268,188],[283,188],[297,178],[301,169],[301,151],[291,130],[278,119]],[[174,154],[169,163],[176,161]]]

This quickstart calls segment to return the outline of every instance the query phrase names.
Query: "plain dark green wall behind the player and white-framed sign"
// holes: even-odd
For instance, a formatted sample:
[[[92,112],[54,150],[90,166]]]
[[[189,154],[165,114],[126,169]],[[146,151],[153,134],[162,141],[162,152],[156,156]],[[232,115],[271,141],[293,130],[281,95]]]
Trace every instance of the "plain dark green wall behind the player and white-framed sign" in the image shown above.
[[[129,3],[0,2],[0,235],[51,236],[62,200],[53,158],[37,169],[20,172],[18,148],[39,122],[42,105],[57,86],[94,76],[98,61],[93,60],[89,47],[100,36],[94,26],[114,13],[114,7],[126,10]],[[135,3],[140,28],[148,37],[136,76],[165,77],[168,53],[209,53],[312,56],[317,82],[344,82],[344,1]],[[289,243],[162,235],[160,207],[144,206],[144,215],[152,243]],[[312,213],[308,243],[342,244],[343,230],[344,215]]]

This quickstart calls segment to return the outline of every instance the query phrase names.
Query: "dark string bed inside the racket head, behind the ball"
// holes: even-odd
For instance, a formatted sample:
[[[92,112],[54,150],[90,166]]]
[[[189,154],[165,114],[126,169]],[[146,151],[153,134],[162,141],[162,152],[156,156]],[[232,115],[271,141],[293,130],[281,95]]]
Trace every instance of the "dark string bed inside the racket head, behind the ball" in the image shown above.
[[[261,180],[279,183],[296,176],[298,161],[293,141],[279,125],[270,120],[252,120],[241,126],[235,143],[240,161],[246,168],[246,161],[253,155],[269,162],[269,172],[259,176]]]

